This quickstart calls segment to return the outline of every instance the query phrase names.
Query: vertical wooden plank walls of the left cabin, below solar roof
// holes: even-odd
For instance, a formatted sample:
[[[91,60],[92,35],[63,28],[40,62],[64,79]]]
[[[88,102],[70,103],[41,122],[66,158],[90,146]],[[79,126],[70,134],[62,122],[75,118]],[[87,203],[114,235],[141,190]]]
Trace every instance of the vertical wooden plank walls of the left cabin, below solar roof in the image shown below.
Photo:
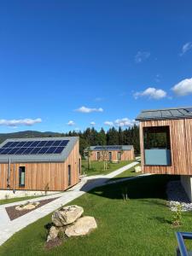
[[[10,189],[62,191],[68,188],[67,168],[71,165],[72,186],[79,182],[79,142],[65,162],[11,163]],[[25,187],[19,186],[19,167],[26,166]],[[0,164],[0,189],[7,189],[8,164]]]

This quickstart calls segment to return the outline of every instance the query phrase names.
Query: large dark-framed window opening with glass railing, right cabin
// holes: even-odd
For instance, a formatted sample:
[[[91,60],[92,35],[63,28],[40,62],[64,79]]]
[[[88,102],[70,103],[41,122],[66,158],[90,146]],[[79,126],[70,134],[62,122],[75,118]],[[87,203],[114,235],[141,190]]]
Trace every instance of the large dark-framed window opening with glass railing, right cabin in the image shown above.
[[[169,126],[143,128],[144,160],[146,166],[171,166]]]

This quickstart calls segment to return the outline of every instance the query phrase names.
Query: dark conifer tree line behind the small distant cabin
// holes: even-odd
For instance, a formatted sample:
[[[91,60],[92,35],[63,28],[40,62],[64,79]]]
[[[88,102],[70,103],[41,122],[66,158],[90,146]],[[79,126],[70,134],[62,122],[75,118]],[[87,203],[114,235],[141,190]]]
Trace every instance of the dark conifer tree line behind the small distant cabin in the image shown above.
[[[133,145],[135,153],[140,153],[139,128],[137,125],[133,125],[124,130],[121,127],[119,127],[119,129],[113,127],[108,131],[104,131],[103,128],[100,131],[96,131],[96,129],[92,127],[84,131],[69,131],[63,134],[63,136],[79,136],[79,151],[82,156],[84,156],[84,148],[95,145]]]

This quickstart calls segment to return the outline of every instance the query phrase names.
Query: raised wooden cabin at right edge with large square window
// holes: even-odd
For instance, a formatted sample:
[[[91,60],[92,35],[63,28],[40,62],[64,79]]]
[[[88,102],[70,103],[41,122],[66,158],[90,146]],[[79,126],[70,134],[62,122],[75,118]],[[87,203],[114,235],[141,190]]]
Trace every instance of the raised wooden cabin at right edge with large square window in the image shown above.
[[[137,120],[143,172],[181,175],[192,200],[192,107],[144,110]]]

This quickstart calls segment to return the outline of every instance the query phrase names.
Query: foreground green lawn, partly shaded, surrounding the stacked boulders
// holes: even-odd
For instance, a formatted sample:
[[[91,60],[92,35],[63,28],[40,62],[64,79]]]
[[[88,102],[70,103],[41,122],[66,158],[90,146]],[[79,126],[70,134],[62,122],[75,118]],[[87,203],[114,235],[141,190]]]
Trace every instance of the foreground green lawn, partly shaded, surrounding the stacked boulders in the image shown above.
[[[175,255],[175,231],[192,231],[192,213],[183,213],[181,227],[172,226],[172,212],[166,207],[166,183],[171,178],[154,175],[93,189],[70,203],[96,218],[98,229],[90,236],[70,238],[45,251],[49,215],[11,237],[0,247],[0,255]],[[128,201],[122,199],[125,188]]]

